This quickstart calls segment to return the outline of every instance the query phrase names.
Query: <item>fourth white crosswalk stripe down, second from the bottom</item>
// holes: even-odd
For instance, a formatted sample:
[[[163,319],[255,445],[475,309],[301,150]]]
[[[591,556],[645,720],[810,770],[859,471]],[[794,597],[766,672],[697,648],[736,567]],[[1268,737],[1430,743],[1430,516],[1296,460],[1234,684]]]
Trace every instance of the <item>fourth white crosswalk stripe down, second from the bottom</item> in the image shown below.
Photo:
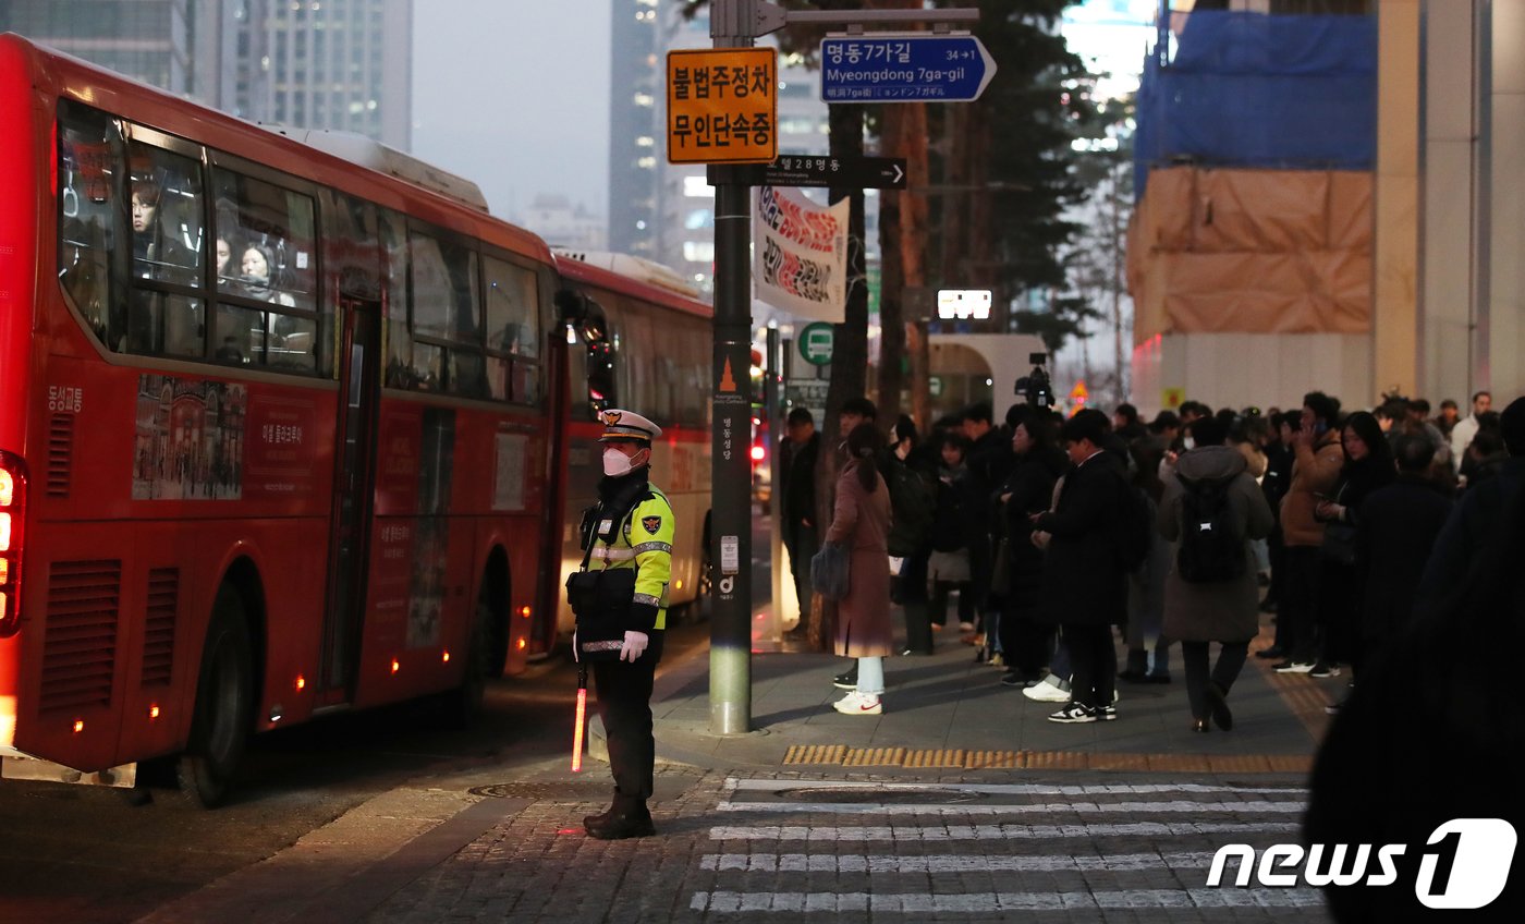
[[[1132,871],[1206,871],[1212,854],[1113,854],[1113,855],[1037,855],[985,857],[971,854],[932,854],[924,857],[834,857],[817,854],[705,854],[698,868],[714,872],[868,872],[868,874],[942,874],[942,872],[1132,872]]]

